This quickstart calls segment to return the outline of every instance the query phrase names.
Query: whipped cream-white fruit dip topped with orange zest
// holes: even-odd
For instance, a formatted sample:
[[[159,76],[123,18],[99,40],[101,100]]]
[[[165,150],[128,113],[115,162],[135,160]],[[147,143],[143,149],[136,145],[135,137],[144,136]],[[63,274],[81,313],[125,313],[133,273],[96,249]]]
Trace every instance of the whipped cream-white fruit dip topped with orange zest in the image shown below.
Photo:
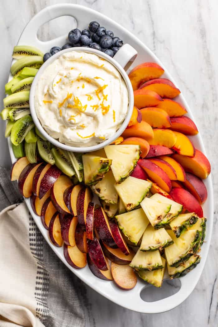
[[[119,71],[95,54],[71,51],[42,73],[36,114],[46,132],[69,146],[93,146],[122,125],[129,95]]]

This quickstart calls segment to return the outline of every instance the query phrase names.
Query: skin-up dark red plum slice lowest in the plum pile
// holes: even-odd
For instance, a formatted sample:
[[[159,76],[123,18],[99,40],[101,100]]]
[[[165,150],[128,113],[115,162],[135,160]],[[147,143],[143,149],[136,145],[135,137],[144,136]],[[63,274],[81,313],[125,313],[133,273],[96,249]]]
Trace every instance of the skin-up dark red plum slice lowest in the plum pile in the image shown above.
[[[100,243],[96,237],[93,240],[87,241],[88,253],[94,265],[100,270],[108,270],[107,262],[100,246]]]

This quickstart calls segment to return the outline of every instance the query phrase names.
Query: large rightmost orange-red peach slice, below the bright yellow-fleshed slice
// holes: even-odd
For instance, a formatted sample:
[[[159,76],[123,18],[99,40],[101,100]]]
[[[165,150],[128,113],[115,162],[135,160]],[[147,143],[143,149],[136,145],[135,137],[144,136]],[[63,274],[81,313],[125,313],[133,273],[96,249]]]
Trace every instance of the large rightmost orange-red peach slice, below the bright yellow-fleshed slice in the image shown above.
[[[196,175],[204,180],[211,171],[210,162],[207,157],[199,150],[195,150],[194,157],[174,154],[173,158],[182,165],[185,171]]]

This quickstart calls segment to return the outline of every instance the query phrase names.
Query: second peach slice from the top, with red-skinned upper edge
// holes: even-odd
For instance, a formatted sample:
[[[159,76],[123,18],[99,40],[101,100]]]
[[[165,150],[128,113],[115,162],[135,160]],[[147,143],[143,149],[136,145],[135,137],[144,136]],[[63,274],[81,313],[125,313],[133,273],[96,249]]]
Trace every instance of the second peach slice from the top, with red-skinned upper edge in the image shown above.
[[[161,98],[168,99],[173,99],[181,93],[180,90],[177,89],[176,86],[167,78],[155,78],[149,80],[148,82],[143,83],[139,89],[154,91],[159,94]]]

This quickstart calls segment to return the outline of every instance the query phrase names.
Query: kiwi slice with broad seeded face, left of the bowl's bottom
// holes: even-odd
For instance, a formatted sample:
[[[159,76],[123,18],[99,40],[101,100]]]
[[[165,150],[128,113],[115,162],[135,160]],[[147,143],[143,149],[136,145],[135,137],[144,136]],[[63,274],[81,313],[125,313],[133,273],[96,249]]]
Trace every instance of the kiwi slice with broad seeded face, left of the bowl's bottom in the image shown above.
[[[34,127],[34,122],[30,115],[25,115],[24,117],[15,121],[11,129],[10,140],[14,145],[20,144],[28,131]]]

